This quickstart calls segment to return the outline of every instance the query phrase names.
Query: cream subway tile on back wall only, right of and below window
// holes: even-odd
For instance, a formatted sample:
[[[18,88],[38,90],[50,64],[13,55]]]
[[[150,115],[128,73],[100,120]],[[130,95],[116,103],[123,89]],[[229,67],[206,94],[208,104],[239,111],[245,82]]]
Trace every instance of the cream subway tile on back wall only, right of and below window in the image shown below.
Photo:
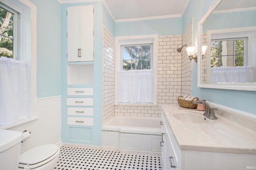
[[[115,115],[161,117],[162,104],[176,104],[181,94],[182,35],[158,36],[157,104],[116,104]]]

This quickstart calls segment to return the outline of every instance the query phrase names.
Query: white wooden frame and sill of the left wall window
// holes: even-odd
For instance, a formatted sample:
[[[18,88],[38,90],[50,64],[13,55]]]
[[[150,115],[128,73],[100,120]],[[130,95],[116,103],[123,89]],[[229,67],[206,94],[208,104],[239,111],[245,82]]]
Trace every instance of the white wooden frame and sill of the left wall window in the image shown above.
[[[20,60],[27,64],[28,77],[28,119],[12,125],[0,126],[8,129],[38,119],[36,115],[36,6],[29,0],[1,0],[3,4],[20,13],[20,31],[18,53]]]

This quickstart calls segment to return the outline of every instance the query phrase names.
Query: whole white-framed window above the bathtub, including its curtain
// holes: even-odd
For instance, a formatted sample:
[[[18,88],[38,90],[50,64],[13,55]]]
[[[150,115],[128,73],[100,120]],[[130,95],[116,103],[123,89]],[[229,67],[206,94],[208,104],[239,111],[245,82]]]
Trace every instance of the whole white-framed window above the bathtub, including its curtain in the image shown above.
[[[157,35],[116,37],[116,103],[156,104]]]

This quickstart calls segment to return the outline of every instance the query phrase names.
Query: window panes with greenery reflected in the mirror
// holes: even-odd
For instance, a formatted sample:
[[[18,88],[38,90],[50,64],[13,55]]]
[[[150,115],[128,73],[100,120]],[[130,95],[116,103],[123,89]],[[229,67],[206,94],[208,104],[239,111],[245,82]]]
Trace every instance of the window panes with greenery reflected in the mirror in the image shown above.
[[[220,39],[211,42],[211,67],[244,66],[247,38]]]

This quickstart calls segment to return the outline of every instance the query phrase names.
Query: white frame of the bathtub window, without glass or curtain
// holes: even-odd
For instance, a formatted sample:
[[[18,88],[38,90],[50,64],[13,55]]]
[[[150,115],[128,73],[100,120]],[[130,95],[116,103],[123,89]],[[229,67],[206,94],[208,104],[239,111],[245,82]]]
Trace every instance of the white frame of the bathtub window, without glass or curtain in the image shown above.
[[[158,35],[132,35],[132,36],[117,36],[115,37],[115,91],[118,92],[118,72],[122,70],[122,45],[138,45],[138,44],[152,44],[152,59],[151,70],[154,72],[154,84],[153,84],[153,104],[157,104],[157,59],[158,59]],[[118,94],[115,93],[115,103],[118,103]]]

